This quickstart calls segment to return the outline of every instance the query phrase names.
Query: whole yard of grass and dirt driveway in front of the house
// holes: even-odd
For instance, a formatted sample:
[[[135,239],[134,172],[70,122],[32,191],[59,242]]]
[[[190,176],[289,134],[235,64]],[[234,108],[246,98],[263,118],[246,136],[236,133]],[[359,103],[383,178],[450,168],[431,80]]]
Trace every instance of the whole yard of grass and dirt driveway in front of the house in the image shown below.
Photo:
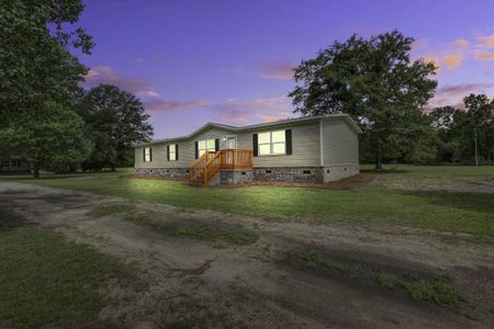
[[[0,191],[0,291],[7,296],[0,298],[0,327],[133,327],[131,320],[144,316],[170,328],[203,327],[209,318],[217,326],[242,327],[256,318],[265,325],[273,310],[256,304],[271,296],[251,292],[269,292],[272,284],[283,286],[274,300],[291,305],[300,298],[290,306],[295,308],[288,307],[300,322],[292,319],[288,327],[311,327],[308,314],[321,324],[381,327],[394,306],[402,325],[420,318],[416,326],[427,325],[436,313],[437,324],[446,326],[451,316],[458,327],[463,322],[456,321],[482,327],[493,319],[492,263],[485,259],[494,245],[494,167],[390,164],[375,172],[363,166],[360,177],[327,186],[197,188],[132,173],[0,177],[0,190],[2,183],[60,189]],[[469,258],[468,269],[479,270],[461,268]],[[145,265],[138,264],[143,260]],[[162,265],[177,260],[179,265]],[[430,265],[435,262],[438,269]],[[188,279],[170,281],[177,272]],[[226,291],[215,285],[215,275],[229,282]],[[245,285],[244,295],[232,295]],[[199,302],[189,297],[201,290]],[[229,306],[201,304],[212,292],[218,296],[213,300]],[[326,299],[325,292],[337,300]],[[403,294],[420,302],[403,302]],[[171,303],[176,297],[180,302]],[[254,306],[237,309],[236,300],[245,298]],[[362,318],[338,309],[353,300],[362,306]],[[238,318],[245,314],[242,322],[231,322],[232,305]],[[228,316],[210,314],[222,307]]]

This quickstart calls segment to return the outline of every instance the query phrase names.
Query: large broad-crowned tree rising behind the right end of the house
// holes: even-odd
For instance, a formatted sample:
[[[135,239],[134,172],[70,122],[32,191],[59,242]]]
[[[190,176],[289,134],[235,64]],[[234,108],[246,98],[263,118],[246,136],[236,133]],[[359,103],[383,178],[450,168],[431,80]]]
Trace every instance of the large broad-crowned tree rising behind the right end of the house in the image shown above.
[[[296,87],[290,93],[295,112],[305,116],[350,114],[373,150],[375,168],[381,169],[382,157],[390,151],[389,140],[413,132],[419,138],[420,129],[406,123],[425,122],[417,117],[423,116],[422,107],[437,87],[430,79],[434,64],[411,60],[413,42],[397,31],[369,39],[353,35],[322,49],[316,58],[303,60],[295,69]]]

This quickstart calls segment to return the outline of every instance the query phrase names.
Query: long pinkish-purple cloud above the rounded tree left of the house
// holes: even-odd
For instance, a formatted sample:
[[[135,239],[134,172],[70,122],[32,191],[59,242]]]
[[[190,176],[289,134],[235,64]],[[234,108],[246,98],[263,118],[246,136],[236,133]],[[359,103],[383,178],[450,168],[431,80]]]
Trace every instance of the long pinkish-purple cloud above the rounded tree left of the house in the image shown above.
[[[82,86],[86,88],[97,87],[100,83],[109,83],[128,91],[141,99],[148,111],[175,111],[191,107],[211,105],[205,100],[175,101],[169,100],[154,91],[147,81],[139,78],[126,78],[115,73],[110,66],[99,66],[88,71]]]

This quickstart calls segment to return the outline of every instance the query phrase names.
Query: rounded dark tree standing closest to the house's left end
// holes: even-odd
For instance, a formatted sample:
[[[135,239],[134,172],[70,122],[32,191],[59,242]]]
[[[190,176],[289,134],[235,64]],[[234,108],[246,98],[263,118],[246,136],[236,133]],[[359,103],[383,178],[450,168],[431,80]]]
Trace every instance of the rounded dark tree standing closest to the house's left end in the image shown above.
[[[147,122],[149,115],[139,99],[115,86],[92,88],[83,97],[79,114],[86,121],[88,137],[96,146],[85,163],[87,169],[100,170],[110,166],[114,170],[125,162],[133,144],[148,141],[153,136],[153,127]]]

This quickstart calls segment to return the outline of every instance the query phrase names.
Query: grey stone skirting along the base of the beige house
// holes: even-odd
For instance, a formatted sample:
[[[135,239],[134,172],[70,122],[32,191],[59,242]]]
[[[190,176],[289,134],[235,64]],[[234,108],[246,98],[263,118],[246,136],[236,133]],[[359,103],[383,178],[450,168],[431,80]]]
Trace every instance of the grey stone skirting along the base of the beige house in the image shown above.
[[[305,182],[327,183],[358,174],[358,164],[325,167],[263,167],[254,170],[221,171],[212,182],[216,184],[244,184],[251,181],[262,182]],[[136,168],[135,174],[144,177],[168,177],[187,179],[188,168]]]

